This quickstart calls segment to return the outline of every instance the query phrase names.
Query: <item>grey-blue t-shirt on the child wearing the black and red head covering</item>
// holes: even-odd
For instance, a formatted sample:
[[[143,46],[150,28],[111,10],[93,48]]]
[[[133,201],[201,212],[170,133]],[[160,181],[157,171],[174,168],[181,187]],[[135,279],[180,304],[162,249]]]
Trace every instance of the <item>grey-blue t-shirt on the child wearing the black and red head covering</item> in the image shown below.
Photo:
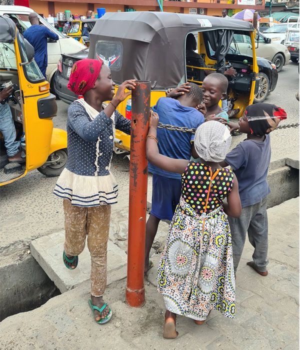
[[[241,207],[258,203],[270,192],[266,181],[270,158],[269,135],[264,141],[244,140],[226,155],[238,181]]]

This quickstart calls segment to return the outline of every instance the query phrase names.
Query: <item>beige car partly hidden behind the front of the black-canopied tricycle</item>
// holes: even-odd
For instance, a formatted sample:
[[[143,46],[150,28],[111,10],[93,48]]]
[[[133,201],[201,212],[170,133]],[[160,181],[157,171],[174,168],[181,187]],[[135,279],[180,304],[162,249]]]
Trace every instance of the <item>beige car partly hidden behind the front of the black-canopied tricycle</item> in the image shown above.
[[[252,55],[252,44],[250,36],[244,34],[234,34],[233,39],[236,42],[238,50],[247,56]],[[288,64],[290,53],[286,46],[270,41],[262,33],[259,33],[259,39],[255,41],[256,56],[266,58],[275,64],[277,71],[280,71],[283,65]]]

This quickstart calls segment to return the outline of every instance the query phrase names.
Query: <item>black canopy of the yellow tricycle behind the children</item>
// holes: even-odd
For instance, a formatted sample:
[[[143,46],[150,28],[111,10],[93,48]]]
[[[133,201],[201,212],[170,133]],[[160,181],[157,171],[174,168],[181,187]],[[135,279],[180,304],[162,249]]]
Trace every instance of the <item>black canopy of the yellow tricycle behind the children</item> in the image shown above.
[[[223,35],[224,30],[233,33],[233,30],[249,32],[254,29],[251,23],[243,20],[197,14],[106,12],[90,31],[88,56],[95,58],[101,53],[97,52],[99,42],[119,42],[121,66],[118,69],[110,66],[117,83],[135,78],[150,80],[155,89],[166,88],[184,81],[187,33],[216,31],[216,37],[224,40],[228,37]]]

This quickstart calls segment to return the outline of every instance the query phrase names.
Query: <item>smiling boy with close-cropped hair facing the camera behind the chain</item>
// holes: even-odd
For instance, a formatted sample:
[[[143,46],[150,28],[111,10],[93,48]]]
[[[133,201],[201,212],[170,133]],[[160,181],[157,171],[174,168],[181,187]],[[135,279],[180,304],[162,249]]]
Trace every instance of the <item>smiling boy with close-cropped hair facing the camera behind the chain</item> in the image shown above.
[[[202,83],[203,102],[206,106],[206,115],[214,114],[216,118],[229,120],[227,112],[219,106],[219,100],[227,98],[228,80],[221,73],[207,75]]]

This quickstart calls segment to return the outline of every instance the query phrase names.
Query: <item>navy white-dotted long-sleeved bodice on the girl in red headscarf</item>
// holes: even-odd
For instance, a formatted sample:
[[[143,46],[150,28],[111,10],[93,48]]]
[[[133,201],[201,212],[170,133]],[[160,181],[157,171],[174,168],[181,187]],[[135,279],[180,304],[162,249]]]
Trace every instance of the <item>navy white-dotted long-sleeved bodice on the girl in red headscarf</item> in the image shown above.
[[[114,127],[130,133],[130,120],[117,110]],[[65,167],[78,175],[104,176],[109,174],[113,150],[113,121],[101,111],[93,119],[78,101],[67,110],[67,162]]]

